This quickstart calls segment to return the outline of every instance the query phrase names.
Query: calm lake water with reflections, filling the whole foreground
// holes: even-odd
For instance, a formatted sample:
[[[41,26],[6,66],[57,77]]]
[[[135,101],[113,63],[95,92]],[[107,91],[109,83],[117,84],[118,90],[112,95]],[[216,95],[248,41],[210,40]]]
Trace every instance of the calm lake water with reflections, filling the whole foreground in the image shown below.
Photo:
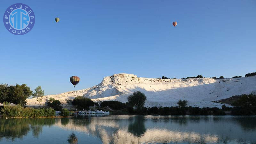
[[[0,119],[0,143],[256,143],[256,117],[98,115]]]

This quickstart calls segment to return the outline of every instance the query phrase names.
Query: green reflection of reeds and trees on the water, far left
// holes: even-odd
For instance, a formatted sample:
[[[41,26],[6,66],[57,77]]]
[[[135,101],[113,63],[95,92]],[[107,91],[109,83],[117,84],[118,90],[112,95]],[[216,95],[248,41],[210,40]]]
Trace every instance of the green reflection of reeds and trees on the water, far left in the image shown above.
[[[50,126],[54,123],[53,118],[0,119],[0,139],[23,138],[30,130],[35,137],[38,137],[44,125]]]

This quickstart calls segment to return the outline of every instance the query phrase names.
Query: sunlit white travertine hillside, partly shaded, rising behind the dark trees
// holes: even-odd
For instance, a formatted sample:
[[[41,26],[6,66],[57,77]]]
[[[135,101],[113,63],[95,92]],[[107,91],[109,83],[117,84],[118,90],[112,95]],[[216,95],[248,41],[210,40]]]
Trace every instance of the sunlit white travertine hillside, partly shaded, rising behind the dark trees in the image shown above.
[[[48,95],[42,100],[28,99],[28,106],[44,106],[50,97],[60,100],[64,107],[71,107],[67,100],[84,96],[94,102],[118,100],[127,102],[132,92],[146,94],[146,106],[177,106],[178,100],[188,100],[188,106],[220,107],[212,102],[234,95],[250,94],[256,91],[256,76],[228,79],[193,78],[193,79],[156,79],[137,77],[133,74],[114,74],[104,77],[102,82],[91,88]]]

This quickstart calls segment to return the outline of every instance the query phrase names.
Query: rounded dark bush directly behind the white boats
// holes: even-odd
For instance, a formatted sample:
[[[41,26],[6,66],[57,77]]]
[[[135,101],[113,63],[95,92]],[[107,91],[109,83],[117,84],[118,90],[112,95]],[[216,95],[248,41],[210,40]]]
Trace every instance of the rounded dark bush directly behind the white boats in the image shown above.
[[[94,106],[94,102],[91,99],[83,96],[76,97],[72,104],[78,109],[89,109],[90,106]]]

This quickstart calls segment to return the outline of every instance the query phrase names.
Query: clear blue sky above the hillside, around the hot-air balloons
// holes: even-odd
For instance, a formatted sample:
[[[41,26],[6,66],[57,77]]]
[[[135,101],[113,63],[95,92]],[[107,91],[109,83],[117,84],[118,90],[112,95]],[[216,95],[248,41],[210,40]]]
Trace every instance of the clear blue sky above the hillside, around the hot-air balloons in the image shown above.
[[[0,83],[40,85],[48,95],[92,87],[116,73],[182,78],[256,72],[256,1],[0,3],[2,15],[24,3],[36,16],[22,36],[0,24]],[[76,88],[69,82],[73,75],[81,79]]]

